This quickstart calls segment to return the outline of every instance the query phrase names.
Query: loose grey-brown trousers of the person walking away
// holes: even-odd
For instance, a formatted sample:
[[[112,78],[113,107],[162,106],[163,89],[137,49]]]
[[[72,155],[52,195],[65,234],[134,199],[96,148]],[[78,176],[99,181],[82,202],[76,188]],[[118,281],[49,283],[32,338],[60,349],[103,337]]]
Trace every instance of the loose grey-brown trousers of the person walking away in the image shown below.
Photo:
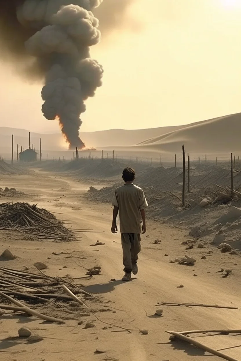
[[[124,272],[132,272],[132,265],[137,263],[138,253],[141,251],[141,236],[137,233],[122,233]]]

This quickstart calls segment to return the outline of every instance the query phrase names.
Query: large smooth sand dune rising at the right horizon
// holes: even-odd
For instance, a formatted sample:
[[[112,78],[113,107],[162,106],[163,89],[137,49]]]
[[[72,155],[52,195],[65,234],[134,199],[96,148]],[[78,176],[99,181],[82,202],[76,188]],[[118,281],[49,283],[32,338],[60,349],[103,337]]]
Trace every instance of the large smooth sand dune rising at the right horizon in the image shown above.
[[[193,124],[137,144],[140,150],[180,152],[182,143],[193,153],[225,153],[241,150],[241,113]]]

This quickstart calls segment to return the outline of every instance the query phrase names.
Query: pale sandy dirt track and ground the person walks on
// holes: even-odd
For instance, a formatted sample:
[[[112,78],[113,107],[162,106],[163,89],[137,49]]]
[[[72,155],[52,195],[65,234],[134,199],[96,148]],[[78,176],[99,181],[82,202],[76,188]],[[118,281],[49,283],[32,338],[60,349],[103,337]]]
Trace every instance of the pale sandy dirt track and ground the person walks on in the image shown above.
[[[94,186],[94,184],[91,184]],[[55,177],[36,171],[30,175],[1,176],[1,187],[15,187],[28,195],[22,201],[38,203],[63,219],[71,228],[89,228],[104,233],[78,233],[78,241],[53,243],[19,240],[18,236],[0,233],[1,249],[9,247],[18,256],[16,260],[0,262],[1,266],[21,269],[36,261],[46,262],[49,275],[73,277],[85,275],[85,268],[99,264],[102,273],[92,279],[82,280],[85,290],[95,293],[111,305],[112,312],[97,313],[99,319],[129,329],[128,333],[118,327],[106,325],[95,319],[95,329],[83,329],[77,321],[66,325],[54,325],[34,317],[0,317],[1,360],[120,360],[120,361],[204,361],[208,353],[182,342],[171,343],[166,330],[238,329],[240,310],[155,306],[158,302],[182,302],[219,304],[240,307],[240,257],[220,253],[207,245],[186,251],[183,241],[190,239],[189,231],[170,227],[167,224],[148,222],[147,233],[142,237],[142,252],[139,259],[139,273],[131,282],[122,282],[122,250],[120,235],[110,232],[112,209],[109,204],[88,203],[83,197],[89,184],[74,179]],[[100,185],[96,186],[100,187]],[[6,201],[6,198],[4,198]],[[9,199],[12,201],[12,199]],[[19,201],[19,199],[13,199]],[[155,244],[156,239],[161,240]],[[105,243],[97,247],[90,244],[97,240]],[[93,249],[94,248],[94,249]],[[78,251],[85,257],[65,258],[53,256],[52,252]],[[195,266],[170,263],[175,257],[187,254],[197,262]],[[201,259],[206,255],[206,259]],[[63,268],[66,266],[67,268]],[[231,268],[232,274],[222,278],[218,270]],[[35,270],[36,271],[36,270]],[[194,274],[197,277],[194,277]],[[111,279],[115,279],[111,281]],[[183,285],[184,287],[178,288]],[[163,308],[163,317],[156,317],[155,311]],[[27,344],[17,336],[21,326],[43,336],[43,341]],[[139,330],[146,329],[148,335]],[[241,360],[241,335],[194,336],[216,349],[225,349],[227,355]],[[96,354],[96,349],[105,351]],[[212,356],[212,360],[221,360]]]

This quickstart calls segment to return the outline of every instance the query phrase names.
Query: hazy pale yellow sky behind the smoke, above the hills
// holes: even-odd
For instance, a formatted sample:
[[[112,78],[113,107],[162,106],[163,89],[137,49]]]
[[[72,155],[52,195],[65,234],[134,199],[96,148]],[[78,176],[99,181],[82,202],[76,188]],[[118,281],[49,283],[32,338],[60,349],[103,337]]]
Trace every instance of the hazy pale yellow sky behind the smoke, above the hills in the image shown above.
[[[143,22],[142,30],[119,30],[92,48],[105,73],[87,101],[82,131],[241,112],[241,0],[137,0],[129,16]],[[42,116],[41,84],[25,83],[7,64],[0,77],[0,126],[58,130]]]

